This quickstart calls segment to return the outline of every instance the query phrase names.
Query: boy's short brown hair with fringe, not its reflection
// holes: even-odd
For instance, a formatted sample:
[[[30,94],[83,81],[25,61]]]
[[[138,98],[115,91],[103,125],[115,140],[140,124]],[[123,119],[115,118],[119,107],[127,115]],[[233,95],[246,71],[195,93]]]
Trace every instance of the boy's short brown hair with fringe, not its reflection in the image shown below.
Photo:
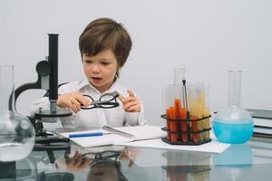
[[[82,57],[83,53],[87,56],[95,56],[105,49],[111,49],[117,59],[118,68],[121,68],[127,61],[131,52],[131,44],[131,36],[122,24],[110,18],[99,18],[92,21],[79,37]]]

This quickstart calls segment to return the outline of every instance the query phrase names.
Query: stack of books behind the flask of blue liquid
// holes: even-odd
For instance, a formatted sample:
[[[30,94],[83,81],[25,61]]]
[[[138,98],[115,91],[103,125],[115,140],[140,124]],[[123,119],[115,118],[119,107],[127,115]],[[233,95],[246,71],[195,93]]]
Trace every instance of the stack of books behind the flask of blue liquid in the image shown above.
[[[272,138],[272,110],[247,110],[254,122],[253,136]]]

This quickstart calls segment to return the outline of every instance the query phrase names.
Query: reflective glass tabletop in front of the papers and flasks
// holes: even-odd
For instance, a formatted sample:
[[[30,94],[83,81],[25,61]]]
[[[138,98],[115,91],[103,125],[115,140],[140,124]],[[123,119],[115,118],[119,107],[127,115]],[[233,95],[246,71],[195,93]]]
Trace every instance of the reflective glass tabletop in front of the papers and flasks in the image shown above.
[[[122,146],[80,148],[73,142],[70,146],[70,150],[54,150],[53,157],[40,150],[23,160],[0,163],[0,180],[272,180],[269,138],[251,138],[221,154]],[[97,153],[102,159],[93,160]]]

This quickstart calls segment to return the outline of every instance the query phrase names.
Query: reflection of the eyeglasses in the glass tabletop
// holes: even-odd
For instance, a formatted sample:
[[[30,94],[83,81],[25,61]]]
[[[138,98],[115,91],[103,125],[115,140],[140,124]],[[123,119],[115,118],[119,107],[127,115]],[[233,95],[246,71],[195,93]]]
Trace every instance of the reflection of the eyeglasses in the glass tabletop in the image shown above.
[[[121,155],[119,151],[113,151],[113,150],[107,150],[107,151],[102,151],[102,152],[88,152],[84,153],[83,157],[88,157],[94,160],[106,160],[106,159],[114,159],[117,160],[117,158]]]

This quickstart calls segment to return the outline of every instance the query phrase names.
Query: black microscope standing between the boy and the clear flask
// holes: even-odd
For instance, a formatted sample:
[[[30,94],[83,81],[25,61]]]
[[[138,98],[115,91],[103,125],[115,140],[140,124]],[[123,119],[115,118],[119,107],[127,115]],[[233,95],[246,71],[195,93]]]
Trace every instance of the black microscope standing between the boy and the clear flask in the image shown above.
[[[38,110],[34,116],[28,117],[36,131],[34,151],[46,151],[50,161],[54,161],[53,150],[65,150],[70,152],[69,138],[60,138],[47,134],[43,127],[43,118],[68,117],[71,111],[59,110],[56,107],[58,99],[58,34],[49,35],[49,56],[45,61],[38,62],[36,71],[38,80],[33,83],[25,83],[15,90],[15,102],[24,90],[42,89],[49,92],[50,110]],[[53,144],[51,144],[53,143]]]

